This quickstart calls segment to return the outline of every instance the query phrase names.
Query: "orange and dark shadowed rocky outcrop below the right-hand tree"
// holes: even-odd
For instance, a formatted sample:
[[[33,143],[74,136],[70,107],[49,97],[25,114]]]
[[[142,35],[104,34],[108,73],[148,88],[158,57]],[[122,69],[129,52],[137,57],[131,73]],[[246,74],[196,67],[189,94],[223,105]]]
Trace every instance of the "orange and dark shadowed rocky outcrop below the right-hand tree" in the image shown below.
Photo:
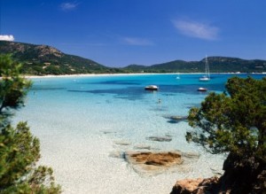
[[[177,181],[170,194],[266,194],[266,165],[254,158],[228,156],[224,174],[207,179]]]

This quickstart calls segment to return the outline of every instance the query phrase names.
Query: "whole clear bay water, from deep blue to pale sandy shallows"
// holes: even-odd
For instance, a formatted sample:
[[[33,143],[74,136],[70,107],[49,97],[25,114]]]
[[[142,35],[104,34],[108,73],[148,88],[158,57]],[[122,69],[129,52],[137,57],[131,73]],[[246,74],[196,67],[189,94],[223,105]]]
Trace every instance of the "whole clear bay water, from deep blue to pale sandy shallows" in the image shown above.
[[[262,79],[265,74],[110,74],[31,78],[25,107],[15,125],[27,121],[41,142],[40,165],[52,167],[63,193],[163,194],[177,180],[223,174],[226,155],[213,155],[187,143],[186,117],[209,92],[222,93],[232,76]],[[145,86],[157,85],[158,91]],[[207,92],[200,92],[200,87]],[[150,136],[168,136],[158,142]],[[185,167],[140,174],[125,151],[182,151],[198,154]],[[121,156],[121,157],[120,157]]]

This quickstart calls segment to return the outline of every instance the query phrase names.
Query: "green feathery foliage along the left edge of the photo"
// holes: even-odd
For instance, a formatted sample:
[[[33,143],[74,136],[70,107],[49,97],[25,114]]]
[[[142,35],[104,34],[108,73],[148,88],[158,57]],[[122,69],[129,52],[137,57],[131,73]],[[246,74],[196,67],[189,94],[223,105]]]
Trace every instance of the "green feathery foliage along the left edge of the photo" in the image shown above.
[[[36,166],[39,140],[27,122],[10,124],[12,111],[24,105],[31,82],[20,76],[20,65],[0,56],[0,193],[59,193],[51,167]]]

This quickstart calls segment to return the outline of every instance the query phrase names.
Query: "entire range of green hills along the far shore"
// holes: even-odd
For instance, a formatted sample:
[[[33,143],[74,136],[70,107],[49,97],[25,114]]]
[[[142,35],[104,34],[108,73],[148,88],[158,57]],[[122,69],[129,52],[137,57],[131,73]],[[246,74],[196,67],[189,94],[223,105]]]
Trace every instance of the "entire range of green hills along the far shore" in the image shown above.
[[[175,60],[153,66],[130,65],[107,67],[97,62],[68,55],[47,45],[0,41],[0,53],[12,54],[22,63],[23,74],[121,74],[121,73],[202,73],[205,58],[200,61]],[[266,72],[266,60],[241,58],[208,57],[211,73],[262,73]]]

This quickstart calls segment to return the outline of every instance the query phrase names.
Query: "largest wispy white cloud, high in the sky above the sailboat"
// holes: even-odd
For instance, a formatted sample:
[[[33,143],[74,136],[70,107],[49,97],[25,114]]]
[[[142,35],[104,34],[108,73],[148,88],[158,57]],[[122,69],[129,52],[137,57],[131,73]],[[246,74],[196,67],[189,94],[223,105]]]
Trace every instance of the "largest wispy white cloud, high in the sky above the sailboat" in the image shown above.
[[[181,34],[205,40],[216,40],[219,32],[218,27],[192,20],[173,20],[173,24]]]

